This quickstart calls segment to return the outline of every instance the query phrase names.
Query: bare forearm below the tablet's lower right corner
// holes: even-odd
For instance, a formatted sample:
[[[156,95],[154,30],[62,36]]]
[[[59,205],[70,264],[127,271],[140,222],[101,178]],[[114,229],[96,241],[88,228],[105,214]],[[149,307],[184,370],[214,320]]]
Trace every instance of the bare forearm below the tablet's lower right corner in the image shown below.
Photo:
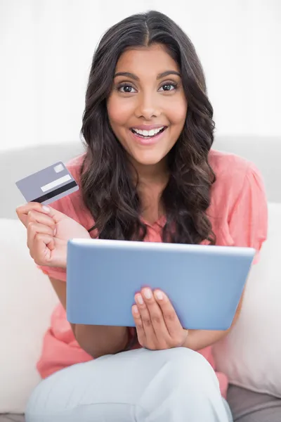
[[[188,347],[188,349],[192,350],[201,350],[204,347],[213,345],[218,340],[221,340],[223,337],[232,330],[233,326],[235,326],[237,319],[239,318],[242,302],[244,298],[244,291],[242,293],[239,305],[237,306],[237,310],[235,312],[235,316],[233,318],[233,323],[231,324],[230,328],[226,331],[207,331],[207,330],[189,330],[188,336],[183,343],[183,347]]]

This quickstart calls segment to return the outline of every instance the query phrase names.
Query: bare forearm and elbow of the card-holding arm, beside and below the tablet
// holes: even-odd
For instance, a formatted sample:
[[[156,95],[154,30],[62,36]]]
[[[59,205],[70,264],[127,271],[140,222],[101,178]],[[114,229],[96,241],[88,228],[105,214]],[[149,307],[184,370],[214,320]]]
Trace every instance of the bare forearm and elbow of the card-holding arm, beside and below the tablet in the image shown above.
[[[51,284],[58,295],[60,303],[66,309],[66,283],[56,279],[51,279]],[[72,331],[85,352],[93,358],[104,354],[115,354],[122,352],[129,340],[126,327],[116,326],[89,326],[81,324],[70,324]]]

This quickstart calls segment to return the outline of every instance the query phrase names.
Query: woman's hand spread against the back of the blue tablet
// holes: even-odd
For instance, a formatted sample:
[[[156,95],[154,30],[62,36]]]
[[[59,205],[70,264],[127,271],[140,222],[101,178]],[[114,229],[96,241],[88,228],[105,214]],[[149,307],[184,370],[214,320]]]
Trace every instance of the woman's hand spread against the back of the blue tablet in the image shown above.
[[[150,350],[181,347],[188,336],[178,319],[174,307],[162,290],[143,288],[135,295],[132,307],[138,343]]]

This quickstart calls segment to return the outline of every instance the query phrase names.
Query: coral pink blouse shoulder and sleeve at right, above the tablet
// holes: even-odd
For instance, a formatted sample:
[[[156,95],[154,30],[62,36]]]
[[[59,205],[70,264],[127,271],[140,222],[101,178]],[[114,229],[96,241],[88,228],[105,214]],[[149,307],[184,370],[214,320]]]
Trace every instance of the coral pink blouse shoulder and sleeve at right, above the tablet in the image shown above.
[[[249,160],[214,150],[209,153],[209,164],[216,174],[208,214],[217,244],[247,246],[259,251],[266,240],[268,224],[261,173]]]

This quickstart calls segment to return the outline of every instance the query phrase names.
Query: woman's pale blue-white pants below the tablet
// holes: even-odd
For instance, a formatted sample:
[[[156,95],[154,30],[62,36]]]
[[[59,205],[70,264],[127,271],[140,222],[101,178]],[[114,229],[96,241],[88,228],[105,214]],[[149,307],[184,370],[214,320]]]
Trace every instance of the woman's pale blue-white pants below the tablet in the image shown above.
[[[26,422],[229,422],[218,379],[185,347],[107,354],[41,381]]]

